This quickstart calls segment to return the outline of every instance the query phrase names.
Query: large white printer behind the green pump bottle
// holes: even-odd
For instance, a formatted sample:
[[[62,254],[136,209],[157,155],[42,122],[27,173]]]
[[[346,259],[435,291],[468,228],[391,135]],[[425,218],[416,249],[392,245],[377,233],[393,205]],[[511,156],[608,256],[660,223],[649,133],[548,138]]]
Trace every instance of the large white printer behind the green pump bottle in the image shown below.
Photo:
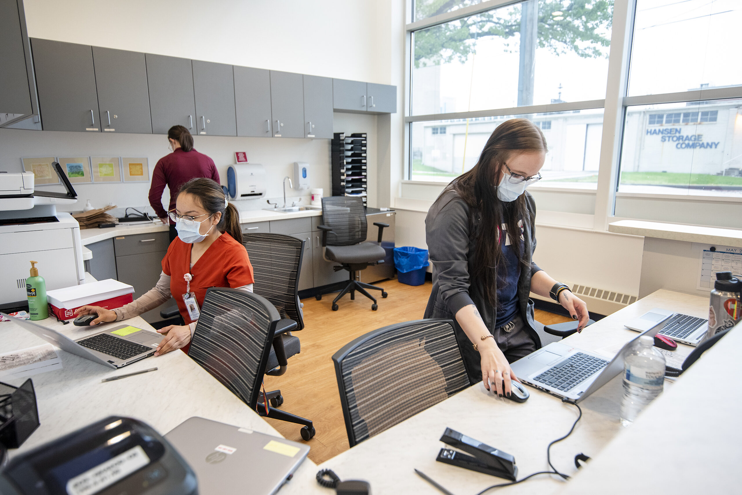
[[[33,173],[0,173],[0,310],[27,304],[30,260],[39,262],[47,290],[85,282],[80,226],[56,205],[76,203],[77,194],[59,163],[53,164],[67,192],[34,191]]]

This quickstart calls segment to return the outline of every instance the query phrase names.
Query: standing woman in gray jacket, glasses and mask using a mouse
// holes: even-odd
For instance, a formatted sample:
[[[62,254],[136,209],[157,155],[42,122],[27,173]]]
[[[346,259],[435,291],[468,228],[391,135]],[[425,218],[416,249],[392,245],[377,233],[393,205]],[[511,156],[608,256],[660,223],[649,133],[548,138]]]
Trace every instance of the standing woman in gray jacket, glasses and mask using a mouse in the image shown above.
[[[525,188],[541,178],[546,151],[533,122],[503,122],[476,165],[444,189],[425,219],[433,263],[425,318],[454,321],[470,381],[493,384],[501,397],[518,379],[510,363],[541,347],[529,292],[562,304],[579,321],[578,331],[588,323],[585,302],[532,259],[536,204]]]

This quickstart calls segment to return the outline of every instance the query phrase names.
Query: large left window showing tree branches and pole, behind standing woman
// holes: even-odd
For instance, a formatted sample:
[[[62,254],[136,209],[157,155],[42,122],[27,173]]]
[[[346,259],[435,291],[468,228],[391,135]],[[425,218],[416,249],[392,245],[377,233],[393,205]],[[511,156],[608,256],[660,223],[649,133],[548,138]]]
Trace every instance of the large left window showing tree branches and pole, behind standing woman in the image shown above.
[[[416,0],[416,20],[450,20],[412,32],[407,177],[449,182],[476,163],[499,123],[524,117],[550,148],[540,185],[594,189],[613,1],[502,3],[459,18],[479,2]]]

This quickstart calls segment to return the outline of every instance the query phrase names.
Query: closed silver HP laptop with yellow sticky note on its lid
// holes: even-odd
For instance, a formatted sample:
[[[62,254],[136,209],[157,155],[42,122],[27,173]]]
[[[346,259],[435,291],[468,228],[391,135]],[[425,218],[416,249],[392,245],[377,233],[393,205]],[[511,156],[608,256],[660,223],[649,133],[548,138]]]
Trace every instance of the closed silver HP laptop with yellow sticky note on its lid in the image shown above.
[[[309,445],[198,417],[165,439],[196,471],[199,495],[275,494],[309,453]]]

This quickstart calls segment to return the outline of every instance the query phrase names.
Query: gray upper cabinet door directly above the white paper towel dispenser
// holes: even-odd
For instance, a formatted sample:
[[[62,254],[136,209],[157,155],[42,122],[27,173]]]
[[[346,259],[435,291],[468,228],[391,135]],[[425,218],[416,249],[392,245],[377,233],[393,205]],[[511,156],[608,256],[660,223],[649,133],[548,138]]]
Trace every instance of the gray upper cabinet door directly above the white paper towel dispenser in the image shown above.
[[[270,137],[271,74],[266,69],[234,66],[237,136]]]

